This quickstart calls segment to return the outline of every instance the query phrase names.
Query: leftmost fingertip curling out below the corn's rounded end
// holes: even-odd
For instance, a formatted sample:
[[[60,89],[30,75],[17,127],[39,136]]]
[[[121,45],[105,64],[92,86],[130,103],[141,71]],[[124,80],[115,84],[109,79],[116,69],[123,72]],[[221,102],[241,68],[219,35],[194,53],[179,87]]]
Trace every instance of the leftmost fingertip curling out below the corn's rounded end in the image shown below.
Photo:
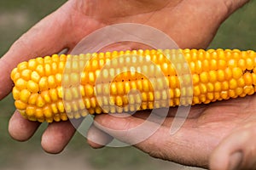
[[[26,141],[38,129],[39,122],[31,122],[20,115],[18,111],[9,120],[9,134],[13,139]]]

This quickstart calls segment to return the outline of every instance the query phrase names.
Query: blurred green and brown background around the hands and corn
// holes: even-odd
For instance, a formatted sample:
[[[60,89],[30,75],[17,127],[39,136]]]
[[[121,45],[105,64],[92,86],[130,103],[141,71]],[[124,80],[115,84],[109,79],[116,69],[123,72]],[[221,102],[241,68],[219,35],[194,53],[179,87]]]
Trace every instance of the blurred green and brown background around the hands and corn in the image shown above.
[[[0,56],[25,31],[51,13],[65,0],[1,0],[0,2]],[[220,27],[209,48],[240,48],[256,50],[256,2],[248,3]],[[40,146],[41,134],[47,124],[27,142],[16,142],[8,134],[8,121],[14,108],[9,95],[0,102],[0,169],[190,169],[151,158],[132,148],[104,148],[93,150],[86,140],[76,134],[60,155],[44,153]]]

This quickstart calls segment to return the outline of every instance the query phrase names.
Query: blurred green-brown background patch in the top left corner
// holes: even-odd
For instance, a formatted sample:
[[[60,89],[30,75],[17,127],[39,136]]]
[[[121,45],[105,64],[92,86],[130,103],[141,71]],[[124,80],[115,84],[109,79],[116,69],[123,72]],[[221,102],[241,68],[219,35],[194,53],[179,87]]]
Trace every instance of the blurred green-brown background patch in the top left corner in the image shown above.
[[[0,56],[30,27],[65,2],[66,0],[0,1]]]

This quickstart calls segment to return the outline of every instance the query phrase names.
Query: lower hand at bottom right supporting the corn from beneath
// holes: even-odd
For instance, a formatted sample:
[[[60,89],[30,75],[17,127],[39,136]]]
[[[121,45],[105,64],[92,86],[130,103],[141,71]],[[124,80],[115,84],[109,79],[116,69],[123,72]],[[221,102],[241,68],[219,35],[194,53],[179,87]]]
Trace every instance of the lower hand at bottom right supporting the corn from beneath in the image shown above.
[[[112,137],[128,144],[134,144],[150,156],[176,161],[184,165],[210,167],[211,169],[255,168],[255,95],[245,98],[218,101],[210,105],[195,105],[183,126],[170,134],[176,109],[171,108],[163,124],[153,121],[150,126],[158,130],[148,139],[137,144],[135,129],[148,121],[148,112],[138,112],[133,116],[117,117],[99,115],[88,133],[89,144],[102,147]],[[144,127],[145,131],[151,129]],[[108,136],[111,135],[111,136]],[[241,160],[239,160],[241,158]]]

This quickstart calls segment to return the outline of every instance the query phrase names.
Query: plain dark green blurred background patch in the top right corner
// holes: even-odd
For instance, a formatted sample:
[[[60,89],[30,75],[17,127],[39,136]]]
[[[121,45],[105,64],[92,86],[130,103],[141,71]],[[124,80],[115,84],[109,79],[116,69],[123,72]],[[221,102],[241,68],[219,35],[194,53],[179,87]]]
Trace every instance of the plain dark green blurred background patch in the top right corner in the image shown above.
[[[232,14],[219,28],[209,48],[239,48],[256,50],[256,2],[250,1]]]

